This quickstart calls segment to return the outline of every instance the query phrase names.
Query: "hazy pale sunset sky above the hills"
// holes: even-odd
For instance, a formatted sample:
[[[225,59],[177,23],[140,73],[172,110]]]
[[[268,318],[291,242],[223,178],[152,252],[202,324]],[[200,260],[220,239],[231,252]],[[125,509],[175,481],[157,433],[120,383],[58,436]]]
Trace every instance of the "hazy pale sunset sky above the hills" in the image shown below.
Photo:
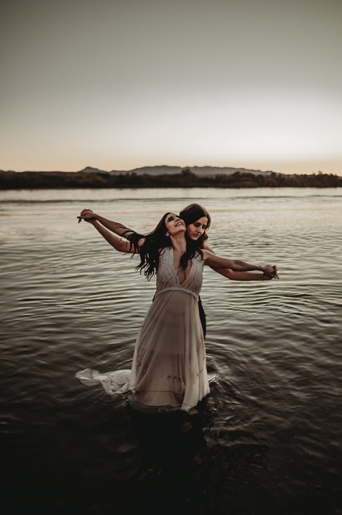
[[[2,0],[0,169],[342,175],[341,0]]]

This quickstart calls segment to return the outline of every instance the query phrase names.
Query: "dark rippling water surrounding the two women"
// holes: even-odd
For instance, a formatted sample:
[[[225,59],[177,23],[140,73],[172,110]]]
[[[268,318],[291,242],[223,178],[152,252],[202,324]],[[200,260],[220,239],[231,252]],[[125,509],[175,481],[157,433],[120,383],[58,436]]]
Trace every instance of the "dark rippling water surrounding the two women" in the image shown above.
[[[339,189],[0,192],[4,512],[342,513]],[[206,269],[211,393],[142,416],[75,372],[129,368],[154,284],[76,216],[150,230],[199,202],[210,246],[280,280]]]

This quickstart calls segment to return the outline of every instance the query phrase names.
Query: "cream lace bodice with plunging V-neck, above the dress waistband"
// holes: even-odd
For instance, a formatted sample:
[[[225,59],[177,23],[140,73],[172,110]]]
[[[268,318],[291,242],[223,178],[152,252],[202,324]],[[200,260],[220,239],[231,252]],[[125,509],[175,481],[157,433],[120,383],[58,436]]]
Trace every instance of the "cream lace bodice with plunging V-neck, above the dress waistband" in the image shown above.
[[[164,291],[182,290],[198,299],[202,286],[203,266],[204,261],[201,255],[195,255],[191,260],[188,277],[180,284],[174,267],[173,249],[172,247],[164,248],[159,256],[156,296]]]

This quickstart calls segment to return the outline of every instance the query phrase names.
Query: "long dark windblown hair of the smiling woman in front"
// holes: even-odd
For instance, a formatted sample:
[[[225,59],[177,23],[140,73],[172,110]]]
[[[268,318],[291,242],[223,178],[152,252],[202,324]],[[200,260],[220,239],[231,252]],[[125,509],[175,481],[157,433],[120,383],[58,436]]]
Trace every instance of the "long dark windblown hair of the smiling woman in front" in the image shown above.
[[[165,220],[170,214],[170,211],[165,213],[165,215],[163,215],[161,220],[158,222],[157,227],[147,235],[134,233],[131,229],[126,231],[127,234],[123,234],[125,238],[129,239],[131,248],[133,247],[134,249],[138,249],[140,263],[135,269],[139,270],[140,273],[143,270],[143,273],[148,281],[150,281],[150,279],[158,270],[160,249],[165,247],[172,247],[170,236],[166,236],[167,229],[165,225]],[[145,238],[145,242],[143,245],[141,245],[140,248],[138,248],[137,243],[141,238]],[[190,238],[186,238],[186,242],[187,249],[180,260],[180,264],[183,270],[186,269],[189,259],[192,259],[197,253],[202,255],[201,246],[198,240],[193,242],[190,240]]]

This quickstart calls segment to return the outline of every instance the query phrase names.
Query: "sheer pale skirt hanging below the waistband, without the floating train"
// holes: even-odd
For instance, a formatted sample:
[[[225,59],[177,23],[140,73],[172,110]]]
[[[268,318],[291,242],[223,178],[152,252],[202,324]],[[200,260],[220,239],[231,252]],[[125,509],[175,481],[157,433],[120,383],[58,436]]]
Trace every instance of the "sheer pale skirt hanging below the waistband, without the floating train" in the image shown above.
[[[186,290],[159,294],[139,330],[131,404],[188,410],[209,393],[197,299]]]

